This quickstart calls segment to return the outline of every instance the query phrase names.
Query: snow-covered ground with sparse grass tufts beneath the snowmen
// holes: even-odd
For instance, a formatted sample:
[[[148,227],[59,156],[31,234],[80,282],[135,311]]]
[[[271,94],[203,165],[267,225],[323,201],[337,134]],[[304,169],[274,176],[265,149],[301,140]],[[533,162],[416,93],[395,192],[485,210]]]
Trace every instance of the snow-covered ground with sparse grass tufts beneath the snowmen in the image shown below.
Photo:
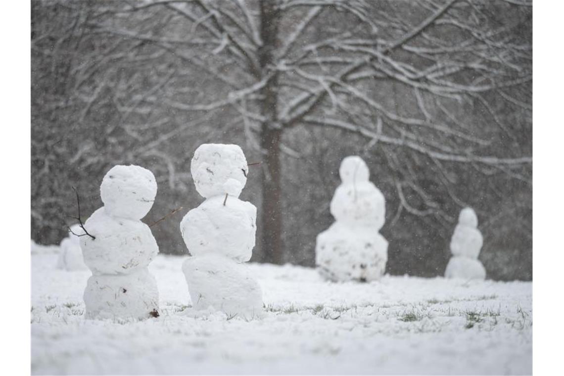
[[[157,319],[85,320],[89,271],[32,254],[33,374],[531,374],[530,282],[385,276],[357,284],[314,269],[250,264],[261,320],[197,317],[180,270],[159,255]]]

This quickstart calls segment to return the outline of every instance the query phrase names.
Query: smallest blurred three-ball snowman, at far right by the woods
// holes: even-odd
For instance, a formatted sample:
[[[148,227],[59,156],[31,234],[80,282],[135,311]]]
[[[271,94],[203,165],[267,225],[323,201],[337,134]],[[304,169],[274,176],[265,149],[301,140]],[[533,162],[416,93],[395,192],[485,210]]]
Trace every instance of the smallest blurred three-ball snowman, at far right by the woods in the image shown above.
[[[451,239],[452,258],[449,260],[444,276],[466,280],[484,280],[486,269],[478,260],[483,245],[482,234],[478,230],[478,217],[474,210],[465,207],[460,211],[459,223]]]

